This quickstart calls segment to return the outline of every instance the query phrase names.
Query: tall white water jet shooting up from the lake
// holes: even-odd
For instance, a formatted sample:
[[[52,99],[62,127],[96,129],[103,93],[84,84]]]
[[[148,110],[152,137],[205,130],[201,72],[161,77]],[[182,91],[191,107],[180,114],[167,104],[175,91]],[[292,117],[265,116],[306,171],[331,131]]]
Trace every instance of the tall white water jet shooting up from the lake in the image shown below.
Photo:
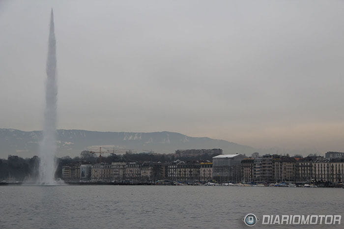
[[[39,180],[40,184],[53,185],[56,184],[56,121],[57,121],[57,71],[56,71],[56,39],[54,31],[54,13],[51,10],[50,16],[50,32],[48,41],[48,57],[47,57],[47,80],[45,88],[45,111],[43,140],[40,143],[40,165]]]

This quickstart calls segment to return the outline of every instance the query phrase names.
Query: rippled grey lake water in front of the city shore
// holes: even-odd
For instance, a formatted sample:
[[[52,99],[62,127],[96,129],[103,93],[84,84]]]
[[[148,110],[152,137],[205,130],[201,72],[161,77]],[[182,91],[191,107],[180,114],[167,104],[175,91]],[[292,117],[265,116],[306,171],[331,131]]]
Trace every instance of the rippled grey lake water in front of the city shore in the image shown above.
[[[0,186],[0,228],[248,228],[262,215],[342,215],[344,189],[222,186]],[[295,228],[341,228],[309,225]],[[290,225],[261,225],[261,228]],[[327,226],[327,227],[326,227]]]

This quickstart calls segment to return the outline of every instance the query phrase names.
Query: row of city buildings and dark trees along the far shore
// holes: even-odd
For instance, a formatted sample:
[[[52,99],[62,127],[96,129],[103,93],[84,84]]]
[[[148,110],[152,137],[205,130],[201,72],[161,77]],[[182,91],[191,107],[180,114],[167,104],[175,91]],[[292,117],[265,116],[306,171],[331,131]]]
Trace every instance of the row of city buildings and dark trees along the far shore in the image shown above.
[[[221,149],[199,149],[170,154],[127,152],[96,156],[97,152],[83,151],[78,157],[58,158],[55,177],[68,184],[209,185],[205,182],[211,182],[213,186],[213,182],[218,182],[227,186],[233,182],[240,186],[343,187],[344,152],[307,157],[222,153]],[[10,155],[1,160],[0,179],[32,182],[38,173],[39,160],[37,156],[24,159]],[[18,170],[18,166],[22,169]]]

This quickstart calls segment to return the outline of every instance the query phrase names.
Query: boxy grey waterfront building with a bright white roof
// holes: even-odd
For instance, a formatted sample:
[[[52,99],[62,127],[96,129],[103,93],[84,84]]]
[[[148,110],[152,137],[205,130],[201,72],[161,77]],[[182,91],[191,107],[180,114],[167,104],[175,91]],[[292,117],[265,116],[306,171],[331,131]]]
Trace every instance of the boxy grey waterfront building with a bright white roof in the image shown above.
[[[222,154],[213,157],[213,178],[218,182],[241,181],[242,154]]]

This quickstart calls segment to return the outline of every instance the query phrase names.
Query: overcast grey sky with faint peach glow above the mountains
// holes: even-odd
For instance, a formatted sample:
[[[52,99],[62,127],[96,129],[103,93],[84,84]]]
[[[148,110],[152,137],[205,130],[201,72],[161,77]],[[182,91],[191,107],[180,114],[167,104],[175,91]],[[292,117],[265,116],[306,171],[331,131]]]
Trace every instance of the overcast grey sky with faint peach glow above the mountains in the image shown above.
[[[344,1],[0,1],[0,128],[42,129],[50,8],[58,128],[344,151]]]

